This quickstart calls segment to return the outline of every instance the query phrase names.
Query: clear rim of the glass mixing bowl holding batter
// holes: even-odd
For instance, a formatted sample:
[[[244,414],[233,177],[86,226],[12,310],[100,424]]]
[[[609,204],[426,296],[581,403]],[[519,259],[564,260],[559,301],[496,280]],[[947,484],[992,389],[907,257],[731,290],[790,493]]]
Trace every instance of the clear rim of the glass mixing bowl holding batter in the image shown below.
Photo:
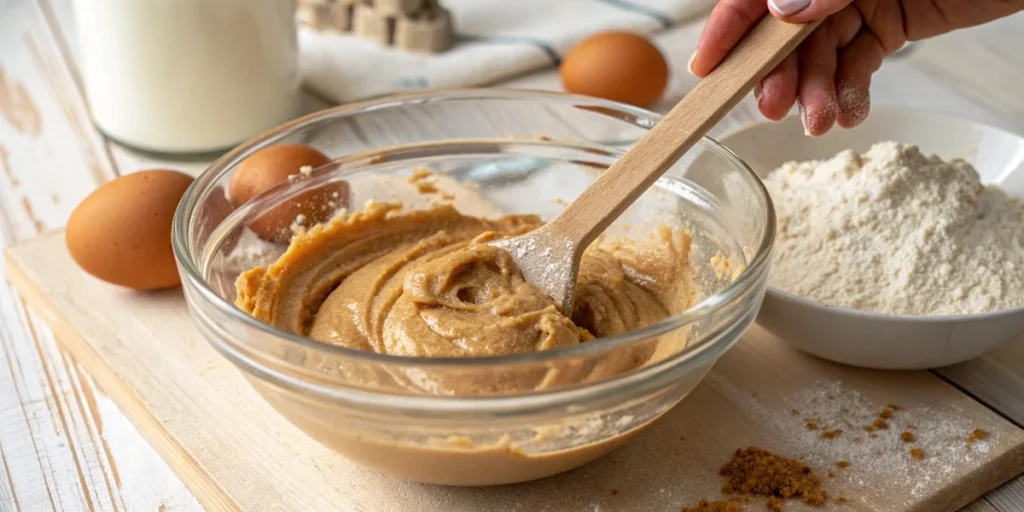
[[[660,115],[644,109],[615,101],[593,98],[590,96],[565,94],[552,91],[502,88],[443,89],[395,94],[337,105],[305,115],[267,130],[237,145],[231,151],[218,158],[205,171],[203,171],[203,173],[197,177],[193,184],[185,190],[185,194],[182,197],[181,202],[178,204],[174,214],[171,234],[174,255],[178,260],[179,268],[184,270],[185,280],[195,288],[195,290],[200,292],[200,295],[206,302],[221,310],[221,312],[227,314],[229,317],[243,323],[249,328],[256,329],[265,335],[272,336],[273,338],[284,342],[298,344],[305,349],[386,366],[413,366],[416,368],[476,368],[481,370],[498,366],[550,362],[567,357],[580,357],[593,353],[610,351],[641,340],[650,339],[652,337],[678,330],[689,324],[697,322],[700,318],[717,311],[721,305],[730,303],[756,289],[758,276],[763,273],[765,266],[770,261],[771,248],[775,240],[774,205],[768,195],[767,188],[761,181],[761,178],[750,168],[750,166],[748,166],[738,156],[729,151],[727,147],[707,136],[699,140],[698,144],[706,150],[710,150],[726,164],[743,173],[743,175],[753,183],[756,195],[758,195],[762,201],[762,206],[765,210],[764,232],[761,240],[758,242],[757,249],[753,253],[754,255],[751,262],[746,265],[746,268],[743,269],[738,278],[733,280],[732,283],[727,285],[718,293],[701,299],[696,304],[693,304],[685,310],[677,314],[673,314],[663,321],[654,323],[643,329],[630,331],[617,336],[602,338],[599,343],[580,343],[551,350],[481,357],[417,357],[381,354],[342,346],[329,345],[305,336],[299,336],[279,330],[269,324],[260,322],[247,314],[245,311],[239,309],[233,302],[220,297],[208,286],[206,280],[203,278],[203,272],[200,271],[195,260],[199,257],[199,254],[194,256],[194,251],[190,247],[189,240],[191,238],[191,232],[195,229],[196,220],[193,217],[193,213],[199,205],[199,201],[208,195],[209,191],[216,185],[217,178],[220,177],[221,173],[228,168],[233,167],[233,165],[237,165],[236,160],[238,160],[241,155],[252,150],[256,145],[273,143],[275,140],[291,134],[294,130],[300,127],[339,116],[352,116],[360,113],[373,112],[375,110],[417,103],[446,100],[482,101],[488,99],[511,99],[542,103],[556,102],[562,104],[587,105],[590,108],[603,108],[612,113],[632,116],[633,119],[617,119],[645,130],[649,129],[650,126],[653,126],[654,123],[662,119]],[[647,121],[649,125],[647,125],[647,123],[639,122],[644,120]],[[344,158],[355,158],[357,155],[358,154],[348,155]],[[337,161],[338,159],[332,160]],[[707,344],[707,341],[712,339],[714,338],[703,340],[698,339],[694,343],[686,346],[679,353],[675,354],[673,358],[686,354],[699,353],[701,350],[698,349],[702,348],[702,346]],[[719,341],[721,342],[720,339]]]

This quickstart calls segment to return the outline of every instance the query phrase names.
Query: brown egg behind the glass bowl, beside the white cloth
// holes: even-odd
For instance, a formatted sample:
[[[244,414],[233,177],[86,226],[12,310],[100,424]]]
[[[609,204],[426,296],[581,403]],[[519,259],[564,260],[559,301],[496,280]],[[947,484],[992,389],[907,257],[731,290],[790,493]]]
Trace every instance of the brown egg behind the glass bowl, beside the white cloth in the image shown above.
[[[669,83],[669,63],[643,36],[605,32],[575,45],[561,66],[562,86],[637,106],[649,106]]]

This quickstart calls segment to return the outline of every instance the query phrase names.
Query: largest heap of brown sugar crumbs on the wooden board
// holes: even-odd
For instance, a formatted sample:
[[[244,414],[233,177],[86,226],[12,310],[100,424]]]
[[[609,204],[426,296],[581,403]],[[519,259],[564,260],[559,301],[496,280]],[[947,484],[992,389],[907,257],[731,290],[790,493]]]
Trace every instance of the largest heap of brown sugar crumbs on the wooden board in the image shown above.
[[[800,498],[810,505],[821,505],[828,498],[810,466],[756,446],[736,450],[720,473],[726,479],[722,485],[726,494]]]

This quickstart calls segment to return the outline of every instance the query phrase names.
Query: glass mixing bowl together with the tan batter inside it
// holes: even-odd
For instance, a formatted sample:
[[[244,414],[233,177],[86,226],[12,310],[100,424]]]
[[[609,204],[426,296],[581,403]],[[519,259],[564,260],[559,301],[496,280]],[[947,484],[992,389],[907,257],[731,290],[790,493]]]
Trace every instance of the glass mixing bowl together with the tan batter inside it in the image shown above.
[[[508,124],[472,123],[481,112]],[[706,139],[699,166],[671,169],[588,248],[568,316],[486,243],[552,218],[622,154],[602,140],[655,121],[493,90],[311,115],[225,156],[182,202],[174,245],[190,311],[271,407],[383,473],[483,485],[586,464],[683,399],[753,322],[771,205]],[[365,138],[346,138],[353,124]],[[334,162],[217,206],[248,155],[295,142]],[[328,221],[296,219],[289,244],[248,227],[324,186],[347,197]]]

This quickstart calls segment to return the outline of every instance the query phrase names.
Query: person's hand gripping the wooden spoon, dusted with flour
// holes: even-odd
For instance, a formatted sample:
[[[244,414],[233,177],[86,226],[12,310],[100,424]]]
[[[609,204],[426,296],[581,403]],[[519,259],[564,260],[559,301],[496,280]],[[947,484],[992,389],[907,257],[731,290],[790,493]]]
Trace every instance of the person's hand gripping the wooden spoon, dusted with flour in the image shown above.
[[[800,106],[804,130],[867,117],[871,75],[907,41],[981,25],[1024,10],[1024,0],[719,0],[690,72],[705,77],[769,11],[791,23],[826,19],[754,89],[758,109],[778,121]]]

